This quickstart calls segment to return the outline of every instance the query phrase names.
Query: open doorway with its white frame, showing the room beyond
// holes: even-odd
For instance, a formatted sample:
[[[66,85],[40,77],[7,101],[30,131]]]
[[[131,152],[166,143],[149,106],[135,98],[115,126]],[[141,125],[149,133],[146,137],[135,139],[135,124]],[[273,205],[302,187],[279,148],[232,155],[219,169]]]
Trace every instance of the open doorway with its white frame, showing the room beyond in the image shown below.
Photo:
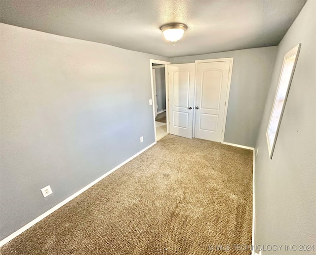
[[[170,62],[150,60],[156,142],[169,134],[167,68]]]

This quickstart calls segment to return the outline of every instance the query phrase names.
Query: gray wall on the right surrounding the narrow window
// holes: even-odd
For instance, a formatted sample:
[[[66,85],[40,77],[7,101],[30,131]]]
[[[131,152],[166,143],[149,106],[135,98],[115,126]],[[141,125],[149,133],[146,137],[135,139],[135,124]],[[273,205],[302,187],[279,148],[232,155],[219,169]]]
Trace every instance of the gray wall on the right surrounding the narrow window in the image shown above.
[[[278,45],[255,157],[256,244],[316,245],[316,1]],[[284,55],[302,43],[273,158],[266,131]],[[284,250],[283,250],[284,251]],[[262,254],[285,254],[263,252]],[[286,254],[289,254],[287,252]],[[315,254],[296,252],[295,254]]]

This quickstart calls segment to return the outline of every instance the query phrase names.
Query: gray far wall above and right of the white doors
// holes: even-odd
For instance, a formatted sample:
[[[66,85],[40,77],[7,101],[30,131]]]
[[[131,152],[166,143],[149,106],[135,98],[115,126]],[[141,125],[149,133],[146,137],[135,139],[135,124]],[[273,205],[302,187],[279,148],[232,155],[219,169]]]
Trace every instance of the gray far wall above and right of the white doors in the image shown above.
[[[234,57],[224,142],[254,147],[277,47],[171,58],[171,64]]]

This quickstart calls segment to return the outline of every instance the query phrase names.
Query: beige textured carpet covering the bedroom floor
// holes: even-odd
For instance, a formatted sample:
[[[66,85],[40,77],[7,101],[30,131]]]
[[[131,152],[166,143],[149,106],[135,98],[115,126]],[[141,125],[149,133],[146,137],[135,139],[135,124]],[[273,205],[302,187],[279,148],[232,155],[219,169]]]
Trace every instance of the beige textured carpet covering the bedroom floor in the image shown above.
[[[252,156],[167,135],[0,253],[249,255],[208,246],[251,245]]]

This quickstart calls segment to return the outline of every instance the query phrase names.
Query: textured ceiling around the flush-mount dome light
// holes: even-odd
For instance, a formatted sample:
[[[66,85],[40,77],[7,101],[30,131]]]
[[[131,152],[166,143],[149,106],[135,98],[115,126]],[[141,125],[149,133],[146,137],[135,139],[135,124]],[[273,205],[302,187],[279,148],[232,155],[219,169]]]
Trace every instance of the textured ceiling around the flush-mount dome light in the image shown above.
[[[306,0],[0,0],[0,21],[175,57],[277,45]],[[188,30],[175,46],[159,27]],[[304,29],[304,28],[302,28]]]

